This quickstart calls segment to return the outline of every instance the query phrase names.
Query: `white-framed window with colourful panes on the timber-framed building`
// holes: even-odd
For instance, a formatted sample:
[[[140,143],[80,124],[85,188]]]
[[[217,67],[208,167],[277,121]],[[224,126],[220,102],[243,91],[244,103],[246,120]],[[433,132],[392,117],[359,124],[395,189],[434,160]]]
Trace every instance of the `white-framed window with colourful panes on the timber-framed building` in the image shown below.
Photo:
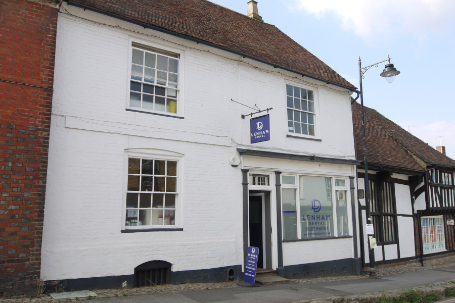
[[[422,244],[423,253],[445,250],[444,220],[442,216],[423,217],[422,223]]]

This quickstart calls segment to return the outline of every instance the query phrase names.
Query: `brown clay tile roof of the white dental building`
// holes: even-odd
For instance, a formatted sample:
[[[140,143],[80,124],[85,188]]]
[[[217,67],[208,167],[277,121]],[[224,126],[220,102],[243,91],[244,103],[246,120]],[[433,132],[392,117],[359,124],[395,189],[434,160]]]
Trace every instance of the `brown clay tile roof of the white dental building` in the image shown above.
[[[198,39],[349,89],[354,85],[276,26],[205,0],[66,0]],[[245,11],[247,6],[245,5]]]

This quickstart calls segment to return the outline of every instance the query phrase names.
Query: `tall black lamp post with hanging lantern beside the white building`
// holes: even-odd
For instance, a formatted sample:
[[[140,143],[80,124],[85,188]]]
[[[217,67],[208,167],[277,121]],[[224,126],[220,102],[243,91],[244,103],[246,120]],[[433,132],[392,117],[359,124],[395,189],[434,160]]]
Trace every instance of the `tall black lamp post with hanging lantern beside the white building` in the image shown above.
[[[370,206],[370,182],[368,181],[368,161],[367,161],[367,139],[365,137],[365,115],[363,114],[363,88],[362,88],[362,79],[363,75],[373,66],[378,67],[380,63],[388,61],[385,65],[384,71],[380,74],[381,77],[385,77],[387,82],[392,83],[395,79],[395,76],[400,72],[393,67],[393,64],[390,63],[391,58],[388,57],[386,60],[381,62],[362,67],[362,62],[360,57],[358,57],[358,76],[360,82],[360,106],[362,109],[362,134],[363,134],[363,163],[365,166],[365,206],[367,208],[367,224],[373,224],[371,220],[371,206]],[[375,251],[371,248],[370,235],[368,237],[368,258],[370,259],[370,278],[376,278],[376,268],[375,268]]]

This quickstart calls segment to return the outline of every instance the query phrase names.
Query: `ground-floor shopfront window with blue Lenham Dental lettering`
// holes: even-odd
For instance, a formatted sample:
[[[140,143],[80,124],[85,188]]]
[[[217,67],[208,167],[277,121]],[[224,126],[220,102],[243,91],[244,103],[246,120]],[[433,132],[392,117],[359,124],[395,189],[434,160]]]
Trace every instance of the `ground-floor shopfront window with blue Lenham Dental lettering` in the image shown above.
[[[283,239],[349,235],[348,211],[345,179],[282,175]]]

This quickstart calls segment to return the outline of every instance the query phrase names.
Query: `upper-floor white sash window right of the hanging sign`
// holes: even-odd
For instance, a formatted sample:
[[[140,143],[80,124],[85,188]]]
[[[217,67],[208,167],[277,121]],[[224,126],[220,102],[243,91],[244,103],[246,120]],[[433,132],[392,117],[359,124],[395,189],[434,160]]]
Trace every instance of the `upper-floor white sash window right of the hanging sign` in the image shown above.
[[[315,135],[314,91],[286,84],[288,132]]]

